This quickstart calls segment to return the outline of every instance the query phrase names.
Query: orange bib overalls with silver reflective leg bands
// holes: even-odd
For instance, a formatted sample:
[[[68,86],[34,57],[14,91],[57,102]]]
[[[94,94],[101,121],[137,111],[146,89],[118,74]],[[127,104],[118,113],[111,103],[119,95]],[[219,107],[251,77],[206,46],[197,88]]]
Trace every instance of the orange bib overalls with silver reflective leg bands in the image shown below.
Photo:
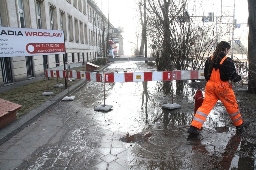
[[[220,64],[226,58],[227,56],[221,60]],[[215,70],[215,68],[212,69],[211,77],[206,83],[203,104],[198,108],[191,125],[201,129],[207,116],[219,99],[226,108],[233,124],[235,126],[241,125],[243,121],[232,86],[228,81],[221,81],[220,71],[219,69]]]

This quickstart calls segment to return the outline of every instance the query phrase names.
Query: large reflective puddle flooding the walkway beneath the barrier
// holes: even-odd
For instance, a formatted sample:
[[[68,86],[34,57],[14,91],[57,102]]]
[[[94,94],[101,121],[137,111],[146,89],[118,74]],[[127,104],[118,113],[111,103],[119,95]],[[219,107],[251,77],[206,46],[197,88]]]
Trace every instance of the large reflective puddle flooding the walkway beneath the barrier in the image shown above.
[[[151,71],[144,63],[111,64],[108,72]],[[138,69],[139,68],[139,69]],[[254,169],[255,146],[236,132],[219,101],[209,114],[200,135],[188,137],[194,116],[194,95],[205,82],[184,81],[177,91],[173,81],[175,110],[162,109],[172,102],[163,82],[106,83],[105,104],[113,110],[95,115],[123,133],[133,169]],[[168,89],[168,86],[167,86]],[[204,92],[204,91],[203,91]],[[108,114],[111,113],[111,114]],[[98,117],[97,117],[98,116]]]

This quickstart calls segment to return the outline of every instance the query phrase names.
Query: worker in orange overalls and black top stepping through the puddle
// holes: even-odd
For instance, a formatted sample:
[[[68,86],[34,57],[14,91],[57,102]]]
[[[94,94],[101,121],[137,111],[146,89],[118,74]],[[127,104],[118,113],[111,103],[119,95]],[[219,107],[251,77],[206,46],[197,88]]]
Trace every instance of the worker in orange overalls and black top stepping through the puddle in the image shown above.
[[[244,128],[250,124],[249,119],[242,119],[232,86],[228,81],[240,81],[244,75],[238,75],[233,60],[226,54],[230,49],[226,41],[218,43],[213,55],[206,60],[204,76],[207,81],[205,98],[201,107],[197,109],[194,119],[187,133],[199,135],[210,111],[220,99],[227,110],[236,129]],[[198,128],[198,129],[197,129]]]

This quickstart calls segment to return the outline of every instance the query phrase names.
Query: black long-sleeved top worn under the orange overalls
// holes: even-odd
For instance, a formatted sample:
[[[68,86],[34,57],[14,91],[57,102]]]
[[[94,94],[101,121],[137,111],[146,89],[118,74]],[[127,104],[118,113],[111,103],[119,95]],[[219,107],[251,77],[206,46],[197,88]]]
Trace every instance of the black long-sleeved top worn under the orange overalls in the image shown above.
[[[241,76],[239,76],[236,73],[236,68],[235,68],[235,65],[234,65],[234,62],[233,62],[232,58],[227,57],[224,60],[224,62],[222,64],[220,64],[221,60],[225,56],[226,56],[226,54],[221,52],[221,56],[218,58],[217,63],[213,64],[213,68],[215,68],[215,70],[220,69],[221,81],[240,81],[241,80]],[[210,61],[211,61],[211,57],[207,58],[206,63],[205,63],[205,67],[204,67],[204,77],[205,77],[205,79],[207,81],[211,77],[211,75],[208,75],[208,73],[210,73],[210,74],[212,73],[212,72],[208,72]]]

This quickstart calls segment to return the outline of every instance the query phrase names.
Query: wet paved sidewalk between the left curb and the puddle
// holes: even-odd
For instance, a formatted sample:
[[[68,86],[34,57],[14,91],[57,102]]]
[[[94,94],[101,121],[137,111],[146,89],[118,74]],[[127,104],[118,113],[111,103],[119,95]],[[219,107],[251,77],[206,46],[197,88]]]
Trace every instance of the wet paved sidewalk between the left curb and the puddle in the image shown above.
[[[124,134],[93,109],[103,95],[95,85],[88,82],[74,101],[59,102],[1,145],[0,169],[129,169]]]

